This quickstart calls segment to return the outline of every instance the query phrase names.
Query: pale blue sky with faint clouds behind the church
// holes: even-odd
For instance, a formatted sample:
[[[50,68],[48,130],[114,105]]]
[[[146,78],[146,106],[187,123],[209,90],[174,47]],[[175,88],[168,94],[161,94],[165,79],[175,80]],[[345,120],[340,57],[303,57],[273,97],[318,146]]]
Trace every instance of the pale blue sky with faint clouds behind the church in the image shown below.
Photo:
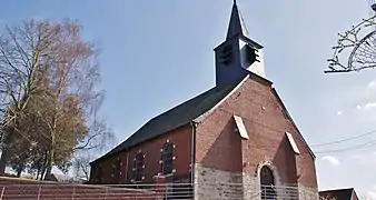
[[[253,39],[265,46],[267,77],[317,152],[319,188],[376,194],[376,71],[324,74],[337,33],[369,17],[368,0],[238,0]],[[101,113],[119,140],[151,117],[215,83],[212,49],[226,37],[231,0],[12,1],[0,24],[78,19],[100,42]],[[369,146],[365,146],[369,143]],[[363,146],[360,149],[353,147]],[[336,151],[349,149],[347,151]],[[332,152],[330,152],[332,151]],[[376,199],[376,197],[375,197]]]

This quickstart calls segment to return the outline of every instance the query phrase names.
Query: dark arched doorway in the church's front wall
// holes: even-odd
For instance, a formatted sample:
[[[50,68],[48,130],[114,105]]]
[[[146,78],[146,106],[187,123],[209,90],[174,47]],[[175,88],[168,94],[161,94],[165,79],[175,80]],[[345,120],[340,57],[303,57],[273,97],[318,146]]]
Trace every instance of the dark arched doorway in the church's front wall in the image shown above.
[[[274,188],[275,180],[270,168],[264,166],[260,170],[261,199],[277,199]]]

